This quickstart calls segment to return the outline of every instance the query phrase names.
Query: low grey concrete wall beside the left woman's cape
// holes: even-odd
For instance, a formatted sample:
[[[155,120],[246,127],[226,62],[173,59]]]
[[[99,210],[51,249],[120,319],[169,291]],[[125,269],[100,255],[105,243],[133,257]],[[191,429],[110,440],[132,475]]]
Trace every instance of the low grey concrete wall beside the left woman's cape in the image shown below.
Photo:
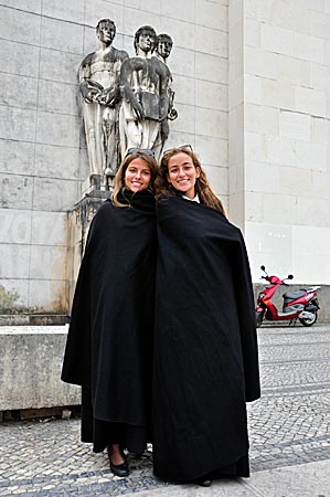
[[[0,327],[0,411],[77,405],[81,389],[60,380],[67,328]]]

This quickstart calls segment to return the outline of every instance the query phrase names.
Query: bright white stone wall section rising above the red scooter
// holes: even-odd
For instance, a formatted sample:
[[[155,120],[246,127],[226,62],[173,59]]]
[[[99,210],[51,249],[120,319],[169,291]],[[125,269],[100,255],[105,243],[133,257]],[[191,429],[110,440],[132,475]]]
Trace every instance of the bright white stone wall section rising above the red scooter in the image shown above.
[[[330,283],[330,9],[244,1],[245,220],[258,267]]]

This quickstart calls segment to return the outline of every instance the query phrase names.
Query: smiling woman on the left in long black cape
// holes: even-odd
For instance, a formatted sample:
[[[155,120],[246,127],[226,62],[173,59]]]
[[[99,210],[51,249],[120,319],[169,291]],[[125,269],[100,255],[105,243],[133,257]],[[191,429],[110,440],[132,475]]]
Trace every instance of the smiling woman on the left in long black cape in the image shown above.
[[[124,448],[150,441],[157,173],[151,150],[131,150],[92,221],[62,371],[82,385],[82,441],[107,448],[117,476],[129,474]]]

